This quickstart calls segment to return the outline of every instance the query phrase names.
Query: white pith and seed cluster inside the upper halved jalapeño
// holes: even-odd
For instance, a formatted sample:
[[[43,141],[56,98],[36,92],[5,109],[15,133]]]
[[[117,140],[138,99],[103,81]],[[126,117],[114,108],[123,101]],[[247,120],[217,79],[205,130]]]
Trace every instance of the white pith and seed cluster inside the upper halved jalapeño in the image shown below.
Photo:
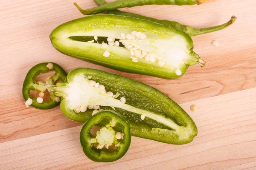
[[[87,32],[85,36],[96,32],[97,31]],[[127,33],[128,31],[124,32]],[[121,56],[130,55],[130,59],[133,62],[152,63],[160,67],[171,68],[175,71],[177,76],[184,74],[182,68],[186,61],[190,63],[198,62],[201,66],[201,62],[204,62],[201,59],[194,57],[193,54],[190,54],[191,51],[186,48],[186,39],[181,35],[177,34],[172,37],[151,34],[147,35],[137,31],[132,31],[130,34],[125,33],[120,33],[119,30],[114,34],[112,33],[111,37],[108,37],[108,42],[97,41],[97,43],[102,43],[101,47],[105,49],[102,56],[111,57],[111,54],[120,54]],[[81,36],[84,35],[84,33],[79,34],[81,34]],[[105,34],[110,34],[110,32],[101,32],[100,34],[104,37],[106,36]],[[119,39],[119,41],[115,41],[116,39]],[[93,41],[94,40],[87,42]],[[123,48],[127,49],[129,52],[125,52],[118,48],[110,48],[111,46],[119,46],[121,43],[124,45]],[[90,44],[96,46],[96,43]]]

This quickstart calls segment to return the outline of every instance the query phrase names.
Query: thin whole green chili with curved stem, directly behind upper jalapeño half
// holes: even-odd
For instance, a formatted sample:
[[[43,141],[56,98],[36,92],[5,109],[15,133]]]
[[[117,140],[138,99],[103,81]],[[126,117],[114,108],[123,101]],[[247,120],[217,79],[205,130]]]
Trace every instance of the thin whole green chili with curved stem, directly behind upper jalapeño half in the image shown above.
[[[97,3],[98,6],[102,6],[102,5],[106,4],[105,0],[94,0],[94,2]],[[81,9],[81,8],[79,8],[79,9]],[[160,23],[160,24],[170,26],[170,27],[179,29],[181,31],[184,31],[187,34],[189,34],[191,37],[196,36],[196,35],[207,34],[207,33],[210,33],[210,32],[215,32],[215,31],[222,30],[224,28],[227,28],[227,27],[231,26],[236,21],[236,17],[232,16],[231,19],[227,23],[221,24],[219,26],[213,26],[213,27],[208,27],[208,28],[193,28],[191,26],[182,25],[182,24],[180,24],[178,22],[175,22],[175,21],[157,20],[157,19],[154,19],[154,18],[151,18],[151,17],[145,17],[145,16],[142,16],[142,15],[133,14],[133,13],[124,12],[124,11],[119,11],[119,10],[111,10],[111,11],[107,11],[106,13],[129,16],[129,17],[135,17],[135,18],[140,18],[140,19],[143,19],[143,20],[150,20],[150,21],[153,21],[154,23]]]

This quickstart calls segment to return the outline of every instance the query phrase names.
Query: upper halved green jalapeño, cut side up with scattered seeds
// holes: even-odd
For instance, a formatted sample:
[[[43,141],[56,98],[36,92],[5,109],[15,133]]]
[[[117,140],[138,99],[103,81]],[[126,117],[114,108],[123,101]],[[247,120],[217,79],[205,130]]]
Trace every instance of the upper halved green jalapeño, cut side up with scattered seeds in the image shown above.
[[[93,43],[93,36],[105,38],[109,45]],[[50,39],[64,54],[130,73],[172,79],[185,74],[190,65],[205,65],[193,51],[188,34],[134,17],[99,14],[79,18],[55,28]]]

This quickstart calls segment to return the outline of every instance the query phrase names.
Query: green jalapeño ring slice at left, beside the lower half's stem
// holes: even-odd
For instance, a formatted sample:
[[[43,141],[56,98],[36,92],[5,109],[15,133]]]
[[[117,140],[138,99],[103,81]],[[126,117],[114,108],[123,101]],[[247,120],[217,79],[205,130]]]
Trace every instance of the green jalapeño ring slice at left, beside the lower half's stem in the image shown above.
[[[49,71],[55,71],[54,76],[46,79],[46,83],[40,81],[35,81],[40,73],[47,73]],[[26,78],[23,83],[22,94],[25,99],[26,105],[31,105],[34,108],[39,109],[50,109],[59,105],[59,97],[56,97],[54,94],[50,94],[50,99],[48,101],[43,101],[42,96],[38,98],[33,98],[30,95],[31,90],[37,90],[40,92],[46,91],[46,85],[54,85],[56,81],[63,81],[67,77],[67,73],[56,63],[53,62],[44,62],[32,67],[26,75]]]

